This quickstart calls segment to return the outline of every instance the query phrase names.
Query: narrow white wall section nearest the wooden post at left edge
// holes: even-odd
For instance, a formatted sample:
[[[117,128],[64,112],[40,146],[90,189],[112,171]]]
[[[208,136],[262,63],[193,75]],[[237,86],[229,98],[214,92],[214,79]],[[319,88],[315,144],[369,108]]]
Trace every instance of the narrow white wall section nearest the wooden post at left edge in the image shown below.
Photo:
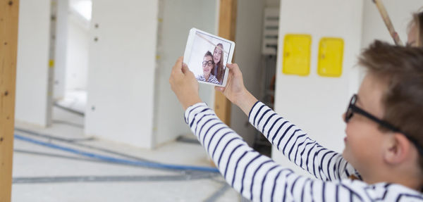
[[[50,6],[49,0],[21,0],[19,6],[15,118],[42,127],[48,123]]]

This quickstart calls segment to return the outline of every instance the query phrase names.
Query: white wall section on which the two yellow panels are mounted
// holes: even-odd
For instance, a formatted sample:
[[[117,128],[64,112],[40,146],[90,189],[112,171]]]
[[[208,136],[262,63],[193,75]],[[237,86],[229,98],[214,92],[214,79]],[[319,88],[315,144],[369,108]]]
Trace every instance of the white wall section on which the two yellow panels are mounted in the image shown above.
[[[362,1],[284,0],[279,21],[278,61],[276,66],[276,112],[288,118],[334,151],[343,150],[345,124],[341,119],[348,99],[358,85],[356,56],[362,35]],[[306,77],[282,74],[283,38],[287,33],[312,35],[311,70]],[[317,75],[317,53],[321,37],[344,39],[341,77]],[[275,160],[300,171],[273,148]],[[302,172],[304,173],[304,172]]]

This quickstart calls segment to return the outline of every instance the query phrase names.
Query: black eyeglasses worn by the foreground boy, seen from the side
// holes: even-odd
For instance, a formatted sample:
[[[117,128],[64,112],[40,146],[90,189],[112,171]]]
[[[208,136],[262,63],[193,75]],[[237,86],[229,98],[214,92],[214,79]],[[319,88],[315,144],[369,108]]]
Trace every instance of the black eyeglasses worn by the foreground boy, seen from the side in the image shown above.
[[[390,123],[380,120],[379,118],[376,118],[374,115],[371,115],[370,113],[367,113],[367,111],[364,111],[362,108],[359,108],[355,105],[357,102],[357,94],[354,94],[351,98],[350,104],[348,105],[347,111],[345,112],[345,122],[350,121],[350,119],[353,117],[354,113],[359,113],[361,115],[364,115],[365,117],[369,118],[370,120],[373,120],[374,122],[377,122],[382,127],[385,127],[388,130],[392,130],[393,132],[399,132],[401,134],[404,134],[405,137],[407,137],[408,140],[412,142],[419,151],[421,155],[423,155],[423,149],[419,144],[417,144],[417,140],[408,135],[405,132],[402,132],[398,127],[395,127],[391,125]]]

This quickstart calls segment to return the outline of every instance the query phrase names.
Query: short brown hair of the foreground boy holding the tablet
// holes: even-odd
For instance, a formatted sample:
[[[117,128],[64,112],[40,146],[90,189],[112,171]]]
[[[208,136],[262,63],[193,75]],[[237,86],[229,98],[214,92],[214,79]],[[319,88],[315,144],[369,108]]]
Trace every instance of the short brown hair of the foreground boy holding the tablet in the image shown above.
[[[364,49],[358,64],[386,84],[384,118],[423,146],[423,49],[376,40]],[[423,156],[419,155],[423,168]]]

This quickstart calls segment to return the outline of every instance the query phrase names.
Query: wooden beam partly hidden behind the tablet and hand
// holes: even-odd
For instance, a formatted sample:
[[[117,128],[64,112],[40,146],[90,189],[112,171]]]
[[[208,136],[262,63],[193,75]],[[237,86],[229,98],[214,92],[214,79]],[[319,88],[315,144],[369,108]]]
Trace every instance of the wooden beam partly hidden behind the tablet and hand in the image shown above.
[[[220,0],[219,36],[235,41],[237,0]],[[214,97],[214,111],[226,125],[231,125],[231,101],[219,91]]]

